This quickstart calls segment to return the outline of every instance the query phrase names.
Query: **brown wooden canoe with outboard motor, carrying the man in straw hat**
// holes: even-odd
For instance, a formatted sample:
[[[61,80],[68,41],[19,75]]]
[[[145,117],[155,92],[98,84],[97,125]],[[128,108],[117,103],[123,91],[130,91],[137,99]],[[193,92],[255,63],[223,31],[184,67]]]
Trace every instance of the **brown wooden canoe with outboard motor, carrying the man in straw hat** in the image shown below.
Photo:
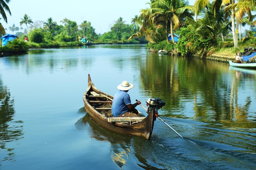
[[[157,107],[149,105],[145,117],[112,117],[111,105],[113,96],[98,90],[88,75],[88,88],[83,94],[85,110],[103,128],[124,135],[141,136],[150,139],[157,115]],[[162,108],[162,106],[161,106]],[[156,114],[156,115],[155,115]]]

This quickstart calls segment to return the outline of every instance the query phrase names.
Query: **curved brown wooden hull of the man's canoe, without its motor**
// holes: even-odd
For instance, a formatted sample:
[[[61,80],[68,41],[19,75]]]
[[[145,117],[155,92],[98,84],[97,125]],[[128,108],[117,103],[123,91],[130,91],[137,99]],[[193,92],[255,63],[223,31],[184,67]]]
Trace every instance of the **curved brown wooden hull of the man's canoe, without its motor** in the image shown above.
[[[100,101],[101,104],[94,103],[94,105],[92,105],[92,103],[90,103],[92,98],[90,98],[91,94],[89,93],[91,93],[92,91],[96,92],[97,94],[106,96],[105,99],[101,99],[103,100],[103,101]],[[111,130],[113,132],[117,132],[124,135],[141,136],[141,137],[144,137],[145,139],[150,139],[152,135],[153,127],[154,127],[154,122],[156,120],[155,109],[152,109],[150,113],[148,113],[147,117],[145,117],[145,119],[143,119],[142,121],[136,124],[109,122],[108,117],[100,113],[100,111],[95,108],[99,108],[99,107],[101,107],[102,109],[106,108],[106,109],[109,109],[109,112],[111,112],[110,109],[111,109],[112,99],[113,99],[113,96],[103,93],[102,91],[99,91],[92,83],[90,79],[90,75],[88,75],[88,88],[83,95],[85,110],[88,113],[88,115],[90,115],[90,117],[95,122],[97,122],[97,124],[99,124],[101,127]],[[106,100],[110,100],[110,102],[107,102]],[[104,101],[107,103],[104,103]]]

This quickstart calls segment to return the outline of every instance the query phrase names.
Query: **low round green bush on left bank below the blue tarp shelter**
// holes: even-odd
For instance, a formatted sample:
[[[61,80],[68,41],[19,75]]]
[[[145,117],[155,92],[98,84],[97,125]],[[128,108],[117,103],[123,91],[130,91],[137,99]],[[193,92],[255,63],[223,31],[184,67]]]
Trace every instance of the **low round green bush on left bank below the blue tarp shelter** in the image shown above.
[[[15,53],[24,53],[28,50],[28,45],[24,40],[16,38],[13,41],[9,41],[6,48],[14,51]]]

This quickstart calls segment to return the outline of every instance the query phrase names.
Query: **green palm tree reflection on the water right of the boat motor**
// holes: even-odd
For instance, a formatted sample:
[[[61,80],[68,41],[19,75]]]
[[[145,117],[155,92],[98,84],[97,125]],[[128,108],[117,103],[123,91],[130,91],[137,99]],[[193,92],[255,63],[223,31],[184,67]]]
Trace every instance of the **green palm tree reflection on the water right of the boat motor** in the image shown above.
[[[225,63],[150,54],[141,67],[141,84],[150,96],[166,102],[165,116],[195,118],[225,127],[256,128],[252,121],[256,119],[252,111],[255,92],[247,93],[255,90],[256,74],[236,71],[230,79],[228,72]],[[251,87],[241,93],[238,89],[246,81]]]

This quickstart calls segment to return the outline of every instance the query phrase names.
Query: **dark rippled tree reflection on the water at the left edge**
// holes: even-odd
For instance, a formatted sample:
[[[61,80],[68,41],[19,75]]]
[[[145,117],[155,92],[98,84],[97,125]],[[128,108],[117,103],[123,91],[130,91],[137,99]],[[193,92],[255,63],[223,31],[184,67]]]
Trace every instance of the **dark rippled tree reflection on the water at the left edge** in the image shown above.
[[[14,161],[15,148],[7,147],[7,144],[12,141],[22,139],[22,124],[23,121],[14,121],[13,116],[14,100],[11,99],[11,94],[6,86],[3,86],[0,79],[0,148],[1,161]],[[0,164],[1,166],[1,164]]]

